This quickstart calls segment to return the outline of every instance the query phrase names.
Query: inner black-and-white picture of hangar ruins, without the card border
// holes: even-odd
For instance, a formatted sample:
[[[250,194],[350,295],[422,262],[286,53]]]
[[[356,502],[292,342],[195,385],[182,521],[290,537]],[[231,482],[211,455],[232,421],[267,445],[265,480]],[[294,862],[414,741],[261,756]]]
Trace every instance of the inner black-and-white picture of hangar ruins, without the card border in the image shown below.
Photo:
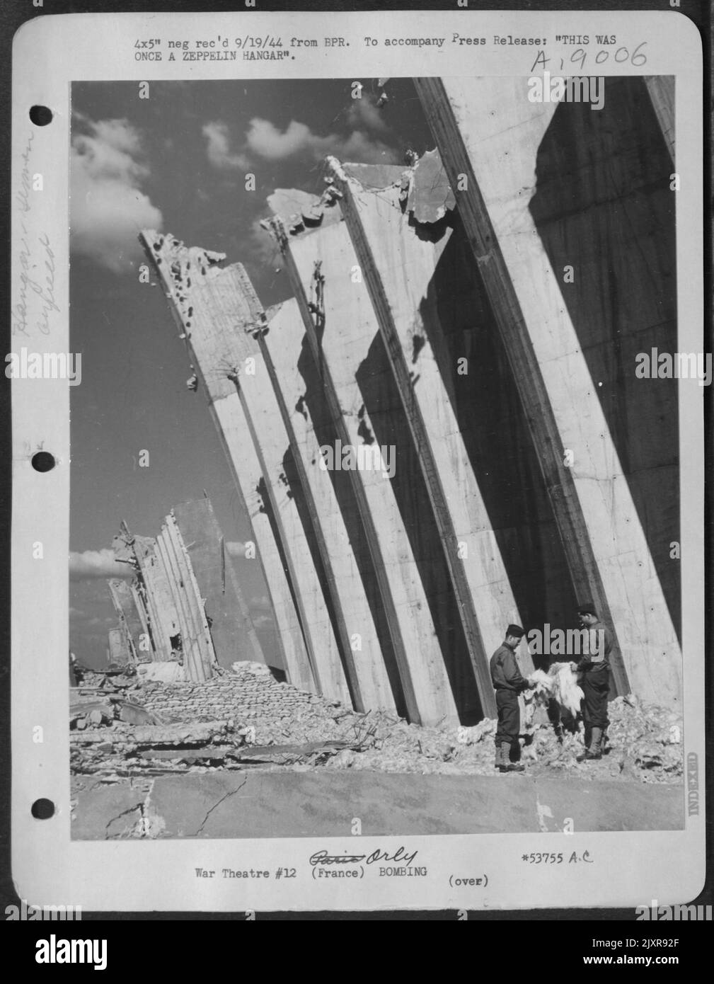
[[[683,826],[674,80],[580,81],[73,87],[73,836]]]

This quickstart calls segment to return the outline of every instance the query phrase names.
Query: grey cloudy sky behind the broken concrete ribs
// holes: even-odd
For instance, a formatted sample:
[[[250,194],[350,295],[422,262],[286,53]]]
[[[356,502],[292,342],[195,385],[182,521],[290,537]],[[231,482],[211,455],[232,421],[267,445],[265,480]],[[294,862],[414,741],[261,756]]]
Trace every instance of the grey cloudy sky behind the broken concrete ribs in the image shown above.
[[[155,535],[178,502],[208,492],[261,639],[274,646],[259,564],[206,397],[191,374],[160,287],[139,282],[137,235],[158,228],[245,264],[264,304],[290,296],[260,229],[274,188],[320,193],[321,161],[402,163],[434,147],[407,80],[82,83],[72,90],[71,347],[82,384],[71,388],[70,646],[105,660],[116,624],[106,578],[120,520]],[[247,172],[256,190],[245,190]],[[149,467],[139,464],[149,451]]]

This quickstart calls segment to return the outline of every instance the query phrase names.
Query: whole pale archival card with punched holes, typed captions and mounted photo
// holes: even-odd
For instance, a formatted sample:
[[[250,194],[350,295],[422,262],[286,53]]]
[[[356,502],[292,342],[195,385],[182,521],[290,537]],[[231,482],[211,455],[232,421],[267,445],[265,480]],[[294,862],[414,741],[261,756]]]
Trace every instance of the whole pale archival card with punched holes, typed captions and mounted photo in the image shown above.
[[[702,66],[666,20],[16,35],[26,908],[699,892]]]

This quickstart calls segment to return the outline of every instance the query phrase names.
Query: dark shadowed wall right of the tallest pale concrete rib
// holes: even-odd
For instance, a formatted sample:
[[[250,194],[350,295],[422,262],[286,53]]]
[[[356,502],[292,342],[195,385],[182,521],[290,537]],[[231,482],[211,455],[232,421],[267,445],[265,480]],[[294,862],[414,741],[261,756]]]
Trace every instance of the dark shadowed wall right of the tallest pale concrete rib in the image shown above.
[[[634,375],[637,352],[678,350],[673,170],[644,82],[606,79],[601,110],[556,109],[530,212],[556,277],[573,268],[563,298],[681,634],[678,382]]]

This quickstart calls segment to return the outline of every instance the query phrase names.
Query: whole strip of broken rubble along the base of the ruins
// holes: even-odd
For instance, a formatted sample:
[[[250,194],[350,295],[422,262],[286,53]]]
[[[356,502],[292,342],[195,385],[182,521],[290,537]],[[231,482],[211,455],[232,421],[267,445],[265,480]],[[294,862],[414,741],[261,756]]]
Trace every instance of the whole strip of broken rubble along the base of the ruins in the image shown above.
[[[496,721],[423,727],[385,711],[363,714],[278,682],[267,666],[234,663],[206,683],[104,677],[72,702],[75,773],[157,774],[208,769],[360,769],[494,774]],[[147,715],[144,719],[139,715]],[[135,714],[136,717],[131,715]],[[582,732],[536,708],[523,736],[525,775],[575,772],[679,782],[682,719],[628,695],[610,704],[607,754],[578,763]],[[127,717],[129,715],[129,718]]]

